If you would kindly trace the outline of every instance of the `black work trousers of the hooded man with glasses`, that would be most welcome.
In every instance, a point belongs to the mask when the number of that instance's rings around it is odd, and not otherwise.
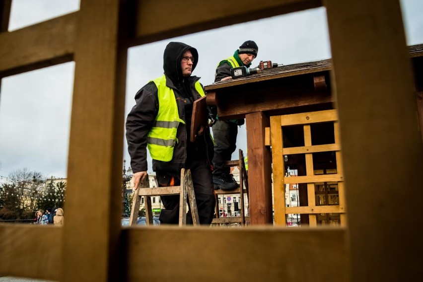
[[[213,219],[215,198],[213,195],[213,184],[211,181],[211,169],[206,160],[193,160],[186,165],[187,169],[191,169],[193,178],[195,198],[197,202],[198,215],[200,224],[210,225]],[[166,173],[156,172],[160,185],[160,179],[170,179],[172,176]],[[174,176],[174,185],[179,186],[181,183],[181,175]],[[164,181],[166,182],[166,181]],[[179,195],[160,196],[161,202],[165,210],[160,212],[159,220],[163,224],[179,223]],[[191,207],[188,202],[187,224],[193,224],[191,216]]]

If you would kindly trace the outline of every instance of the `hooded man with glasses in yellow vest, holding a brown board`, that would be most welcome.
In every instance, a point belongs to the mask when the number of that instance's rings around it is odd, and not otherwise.
[[[211,181],[213,143],[209,128],[194,142],[189,139],[193,103],[205,91],[191,75],[198,63],[195,48],[170,42],[163,54],[164,75],[151,80],[135,95],[136,105],[128,114],[126,138],[137,188],[147,176],[147,148],[160,186],[180,185],[181,169],[191,169],[201,224],[210,224],[215,198]],[[159,220],[178,224],[179,195],[161,196],[165,210]],[[187,223],[192,223],[188,211]]]

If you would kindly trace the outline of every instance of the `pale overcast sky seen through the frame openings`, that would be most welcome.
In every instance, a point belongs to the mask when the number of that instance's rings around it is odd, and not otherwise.
[[[423,1],[401,0],[401,4],[407,44],[423,43]],[[79,0],[13,0],[9,31],[78,9]],[[323,7],[134,47],[128,52],[125,117],[135,104],[138,89],[162,75],[163,50],[169,41],[197,48],[199,63],[193,74],[209,85],[217,63],[246,40],[259,46],[253,66],[261,60],[288,65],[331,57]],[[72,62],[1,80],[0,182],[24,167],[46,177],[67,177],[74,66]],[[245,126],[239,131],[237,145],[245,151]],[[126,141],[123,151],[128,166]]]

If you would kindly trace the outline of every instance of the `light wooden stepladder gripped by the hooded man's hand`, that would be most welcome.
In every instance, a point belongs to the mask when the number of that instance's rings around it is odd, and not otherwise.
[[[181,184],[179,186],[150,187],[148,175],[147,177],[145,177],[144,181],[139,184],[138,189],[135,190],[129,225],[132,226],[137,223],[138,213],[141,206],[141,198],[143,198],[144,200],[146,224],[153,225],[153,215],[150,197],[168,195],[180,196],[179,226],[186,225],[187,223],[187,199],[189,200],[191,207],[193,225],[200,225],[191,170],[184,168],[181,169]]]

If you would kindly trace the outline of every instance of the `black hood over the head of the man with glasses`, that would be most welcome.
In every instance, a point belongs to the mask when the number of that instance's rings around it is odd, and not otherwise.
[[[194,63],[192,71],[198,64],[198,52],[197,49],[182,43],[182,42],[169,42],[163,53],[163,70],[164,74],[169,77],[174,83],[183,80],[181,60],[184,53],[190,50],[193,57]]]

